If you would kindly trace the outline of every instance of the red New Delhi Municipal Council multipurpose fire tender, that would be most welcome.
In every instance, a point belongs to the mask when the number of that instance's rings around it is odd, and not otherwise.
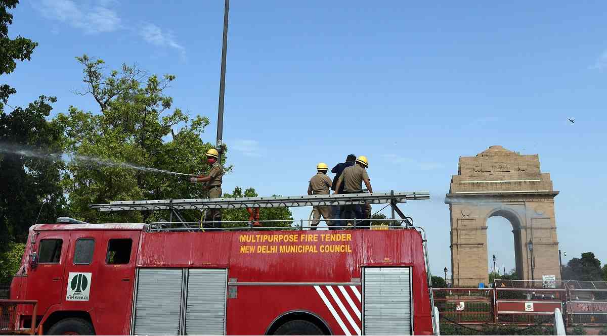
[[[54,335],[434,333],[421,229],[285,229],[35,225],[11,298]]]

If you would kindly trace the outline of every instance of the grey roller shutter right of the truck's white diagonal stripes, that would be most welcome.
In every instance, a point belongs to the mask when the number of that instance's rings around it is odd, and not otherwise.
[[[410,267],[364,267],[365,335],[412,335]]]

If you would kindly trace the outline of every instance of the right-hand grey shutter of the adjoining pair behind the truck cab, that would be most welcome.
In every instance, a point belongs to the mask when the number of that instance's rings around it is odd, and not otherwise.
[[[225,333],[226,269],[189,269],[186,335]]]

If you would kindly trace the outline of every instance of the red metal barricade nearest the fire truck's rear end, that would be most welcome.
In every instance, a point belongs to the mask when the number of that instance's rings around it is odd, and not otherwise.
[[[441,320],[460,324],[493,323],[493,289],[433,288]]]

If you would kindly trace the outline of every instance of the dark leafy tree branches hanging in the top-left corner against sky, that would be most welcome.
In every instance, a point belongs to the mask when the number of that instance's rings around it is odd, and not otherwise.
[[[38,43],[30,39],[17,36],[8,37],[8,25],[13,24],[13,15],[8,10],[17,6],[19,0],[0,0],[0,75],[12,73],[17,67],[16,60],[29,60]],[[16,90],[7,84],[0,84],[0,112],[8,101],[8,96]]]

